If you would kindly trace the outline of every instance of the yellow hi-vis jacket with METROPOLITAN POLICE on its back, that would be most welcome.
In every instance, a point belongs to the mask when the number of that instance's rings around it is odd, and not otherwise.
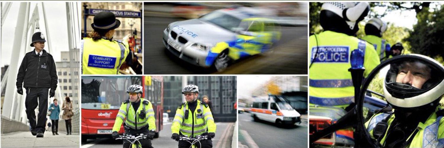
[[[346,107],[354,100],[350,54],[354,49],[364,52],[364,76],[378,64],[373,45],[344,33],[324,31],[310,36],[309,100],[311,104]],[[317,53],[315,53],[317,52]],[[315,54],[318,54],[315,57]]]

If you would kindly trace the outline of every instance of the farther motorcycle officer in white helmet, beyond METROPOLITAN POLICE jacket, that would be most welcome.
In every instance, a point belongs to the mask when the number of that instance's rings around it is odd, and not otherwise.
[[[379,18],[372,18],[365,24],[365,36],[362,37],[362,40],[373,45],[380,60],[385,59],[386,48],[389,48],[387,45],[390,46],[386,40],[382,39],[382,33],[385,30],[387,30],[387,23]]]

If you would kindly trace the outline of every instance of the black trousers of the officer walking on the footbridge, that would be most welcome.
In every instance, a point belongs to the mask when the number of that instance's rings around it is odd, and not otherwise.
[[[26,88],[25,108],[31,130],[45,132],[46,113],[48,112],[48,90],[49,88]],[[38,100],[38,102],[37,102]],[[39,114],[34,111],[39,106]]]

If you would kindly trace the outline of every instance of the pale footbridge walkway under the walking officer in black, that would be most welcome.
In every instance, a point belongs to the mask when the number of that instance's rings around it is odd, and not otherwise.
[[[36,138],[31,132],[11,132],[1,134],[2,148],[79,148],[79,135],[66,135],[59,131],[59,135],[52,135],[46,131],[44,138]]]

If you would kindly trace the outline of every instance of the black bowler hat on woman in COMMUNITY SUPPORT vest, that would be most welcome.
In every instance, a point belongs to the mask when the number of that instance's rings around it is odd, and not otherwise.
[[[120,26],[120,20],[115,19],[115,15],[109,11],[99,12],[94,16],[94,23],[91,27],[96,31],[108,31]]]

